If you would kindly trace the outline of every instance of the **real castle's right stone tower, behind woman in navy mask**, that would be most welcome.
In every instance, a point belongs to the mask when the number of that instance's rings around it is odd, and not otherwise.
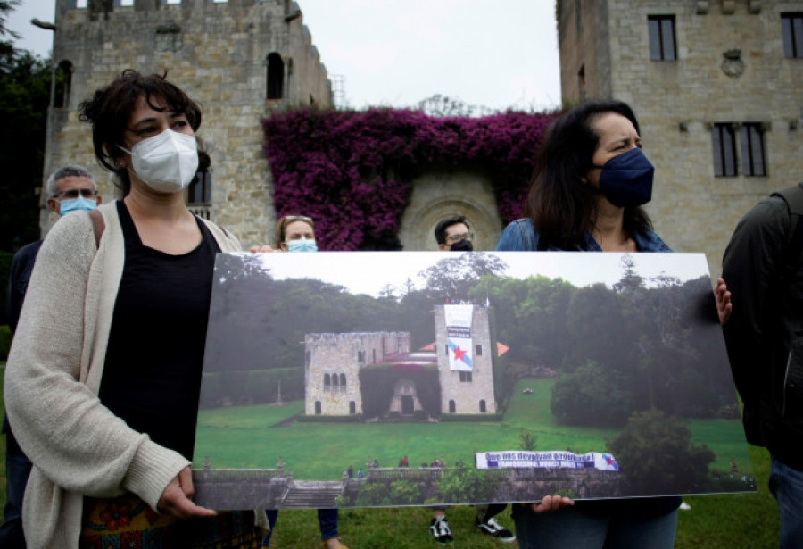
[[[564,101],[633,106],[655,164],[650,215],[712,275],[737,221],[803,180],[799,0],[560,0]]]

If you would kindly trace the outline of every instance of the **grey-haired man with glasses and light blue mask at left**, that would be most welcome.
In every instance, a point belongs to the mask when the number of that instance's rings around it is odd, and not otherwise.
[[[59,168],[47,179],[47,208],[60,217],[70,212],[91,211],[101,203],[97,185],[92,174],[83,166],[70,165]],[[42,240],[24,245],[14,254],[8,285],[8,325],[12,334],[17,329],[22,302],[28,289],[30,273],[37,261]],[[0,525],[0,547],[24,549],[25,537],[22,534],[22,495],[30,474],[30,462],[22,453],[20,446],[8,425],[3,420],[5,437],[5,507],[3,524]]]

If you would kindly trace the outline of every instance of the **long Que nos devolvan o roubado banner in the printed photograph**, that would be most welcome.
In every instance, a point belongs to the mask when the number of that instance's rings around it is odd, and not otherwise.
[[[477,469],[598,469],[619,470],[610,453],[571,452],[477,452]]]

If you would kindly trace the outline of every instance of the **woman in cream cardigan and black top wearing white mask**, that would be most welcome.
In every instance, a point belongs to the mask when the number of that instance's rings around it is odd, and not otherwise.
[[[30,279],[5,375],[28,546],[259,546],[264,512],[192,501],[215,254],[239,251],[186,209],[201,111],[125,71],[80,112],[125,197],[56,223]]]

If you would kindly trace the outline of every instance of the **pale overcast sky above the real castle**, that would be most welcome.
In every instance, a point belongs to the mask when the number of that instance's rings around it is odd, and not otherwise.
[[[17,46],[48,56],[55,0],[22,0]],[[345,104],[404,107],[440,94],[496,110],[560,104],[554,0],[299,0]]]

